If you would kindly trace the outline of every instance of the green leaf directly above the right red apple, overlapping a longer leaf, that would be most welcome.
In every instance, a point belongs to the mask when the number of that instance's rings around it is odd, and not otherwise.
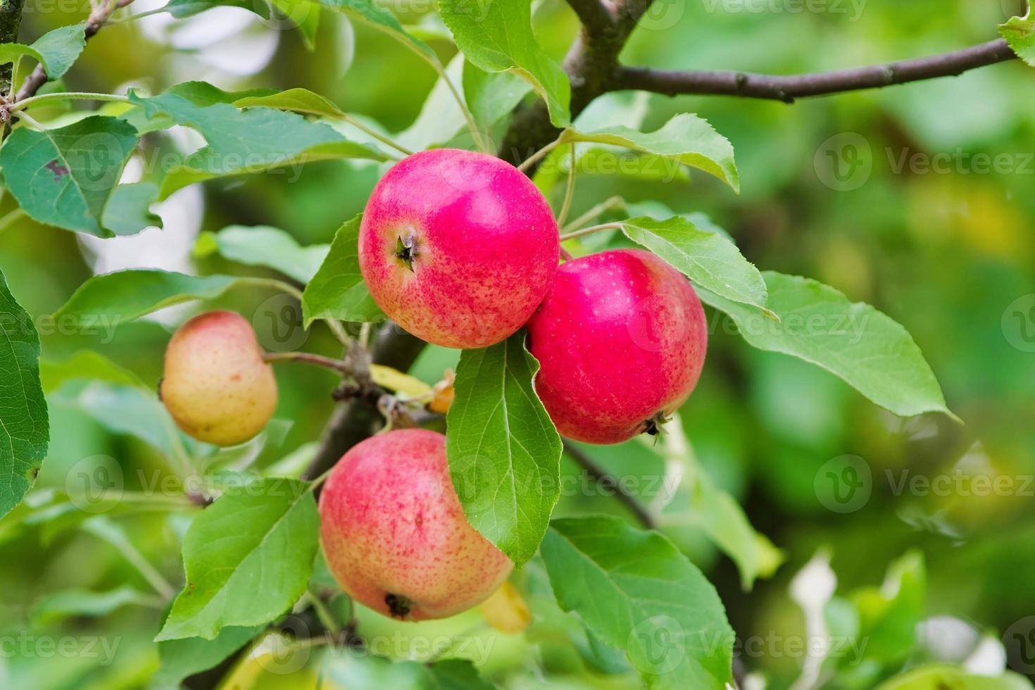
[[[622,232],[672,264],[694,286],[767,313],[766,283],[755,265],[722,235],[700,230],[682,216],[655,220],[647,216],[623,220]]]

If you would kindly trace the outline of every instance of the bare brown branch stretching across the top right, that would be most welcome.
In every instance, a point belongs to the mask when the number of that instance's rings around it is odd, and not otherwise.
[[[877,89],[940,77],[955,77],[969,69],[1015,58],[1016,55],[1006,41],[999,39],[943,55],[792,77],[623,66],[618,68],[611,88],[653,91],[670,96],[710,94],[768,98],[791,103],[795,98],[807,96]]]

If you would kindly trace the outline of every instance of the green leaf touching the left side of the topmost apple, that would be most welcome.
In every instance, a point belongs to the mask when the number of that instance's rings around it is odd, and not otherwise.
[[[371,297],[359,272],[359,222],[347,221],[334,234],[330,251],[320,270],[302,293],[302,323],[309,327],[316,319],[378,322],[385,316]]]

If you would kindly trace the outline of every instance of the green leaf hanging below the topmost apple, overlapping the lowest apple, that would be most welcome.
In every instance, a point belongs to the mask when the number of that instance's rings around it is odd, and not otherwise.
[[[464,513],[518,566],[535,554],[560,499],[561,438],[536,395],[538,370],[524,331],[465,350],[446,418],[449,474]]]

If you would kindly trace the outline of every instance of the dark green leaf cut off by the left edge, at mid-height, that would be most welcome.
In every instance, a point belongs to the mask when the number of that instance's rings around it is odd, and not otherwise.
[[[0,517],[36,481],[49,441],[39,335],[0,273]]]

